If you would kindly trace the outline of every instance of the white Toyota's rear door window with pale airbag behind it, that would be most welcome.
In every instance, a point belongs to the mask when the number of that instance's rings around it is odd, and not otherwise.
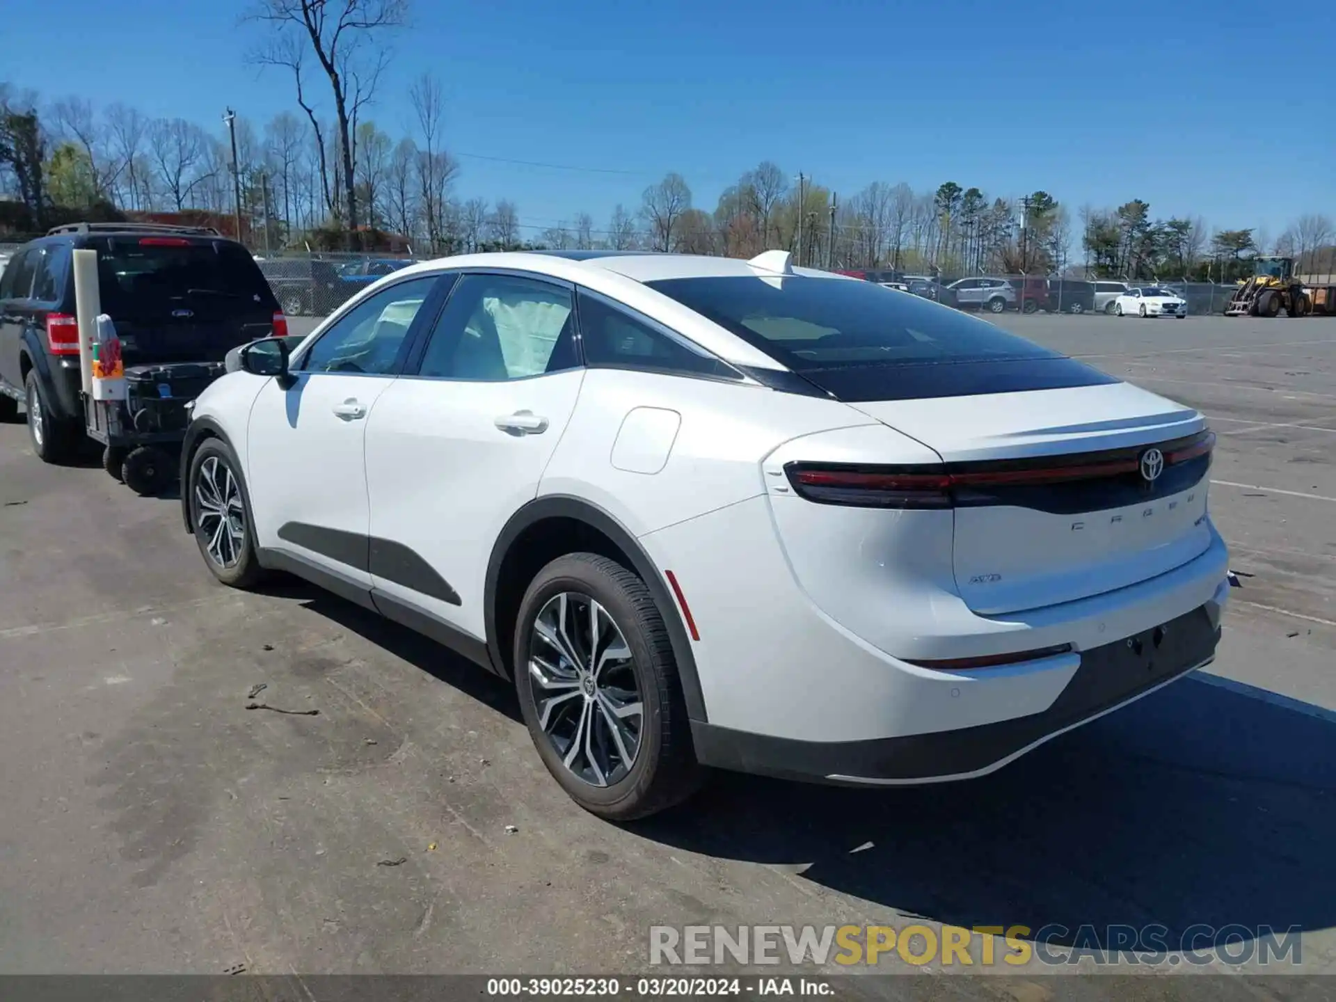
[[[570,290],[517,275],[464,275],[418,375],[494,382],[578,365]]]

